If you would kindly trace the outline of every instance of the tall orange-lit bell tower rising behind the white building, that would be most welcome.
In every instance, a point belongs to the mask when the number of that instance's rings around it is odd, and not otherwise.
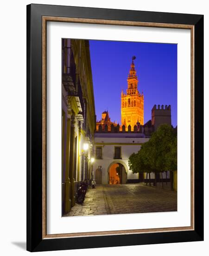
[[[133,60],[136,57],[132,57],[131,68],[128,74],[127,94],[121,92],[121,125],[127,127],[131,125],[133,131],[134,125],[139,121],[141,125],[144,125],[144,95],[140,94],[137,88],[138,79],[135,71],[135,65]]]

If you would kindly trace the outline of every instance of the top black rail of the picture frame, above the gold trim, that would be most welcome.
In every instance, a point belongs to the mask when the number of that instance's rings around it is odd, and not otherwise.
[[[98,20],[126,20],[153,23],[195,25],[202,17],[199,14],[162,13],[95,7],[73,7],[59,5],[32,4],[33,10],[41,16],[86,18]]]

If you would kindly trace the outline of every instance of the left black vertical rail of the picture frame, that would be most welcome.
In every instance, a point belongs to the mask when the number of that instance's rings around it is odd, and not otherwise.
[[[42,241],[42,20],[27,6],[27,242]]]

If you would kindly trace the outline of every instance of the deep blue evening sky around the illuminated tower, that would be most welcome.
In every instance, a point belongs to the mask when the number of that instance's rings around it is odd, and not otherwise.
[[[132,56],[138,90],[144,93],[144,123],[154,104],[171,105],[171,122],[177,126],[177,44],[89,40],[96,119],[107,110],[120,123],[120,93],[126,92]]]

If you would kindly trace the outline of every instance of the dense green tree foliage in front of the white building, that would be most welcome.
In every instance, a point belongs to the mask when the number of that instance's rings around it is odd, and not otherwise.
[[[149,141],[145,142],[138,153],[130,155],[128,165],[133,173],[177,170],[177,134],[163,124],[158,127]]]

